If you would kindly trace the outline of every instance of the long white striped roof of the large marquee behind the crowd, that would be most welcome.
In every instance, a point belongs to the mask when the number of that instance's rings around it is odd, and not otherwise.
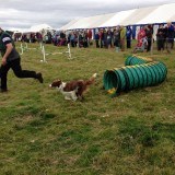
[[[175,3],[133,9],[109,14],[73,20],[59,30],[113,27],[117,25],[143,25],[175,22]]]

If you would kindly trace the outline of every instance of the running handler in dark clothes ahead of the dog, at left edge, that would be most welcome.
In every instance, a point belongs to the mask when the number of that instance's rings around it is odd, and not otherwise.
[[[0,27],[0,51],[2,56],[2,63],[0,67],[1,92],[8,91],[7,75],[10,68],[18,78],[34,78],[43,83],[42,73],[35,71],[22,70],[21,57],[15,49],[14,42],[11,36]]]

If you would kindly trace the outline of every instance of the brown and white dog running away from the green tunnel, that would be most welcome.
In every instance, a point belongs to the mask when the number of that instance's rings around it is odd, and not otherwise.
[[[85,90],[89,85],[94,83],[96,73],[94,73],[89,80],[73,80],[70,82],[56,80],[49,84],[49,86],[58,89],[58,91],[65,95],[65,100],[83,100]]]

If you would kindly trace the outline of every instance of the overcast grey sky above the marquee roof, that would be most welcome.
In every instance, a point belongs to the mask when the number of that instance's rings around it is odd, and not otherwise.
[[[46,23],[59,28],[73,19],[165,3],[175,0],[0,0],[0,26],[23,30]]]

